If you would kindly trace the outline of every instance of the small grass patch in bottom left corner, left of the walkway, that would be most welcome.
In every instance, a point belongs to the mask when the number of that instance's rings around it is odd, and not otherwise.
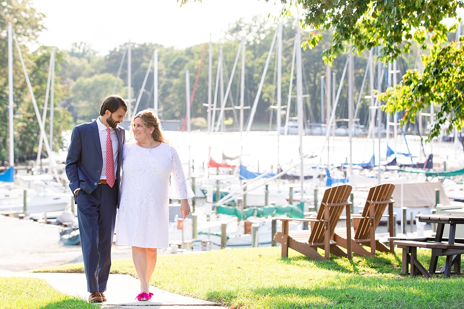
[[[67,296],[39,278],[0,277],[1,309],[97,309],[82,299]]]

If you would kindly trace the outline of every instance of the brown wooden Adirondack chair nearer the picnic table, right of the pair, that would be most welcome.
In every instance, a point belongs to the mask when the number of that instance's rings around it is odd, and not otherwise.
[[[363,256],[375,256],[375,250],[383,252],[394,252],[393,241],[390,241],[390,248],[375,239],[375,230],[379,226],[380,218],[383,216],[388,206],[388,227],[390,237],[393,237],[393,189],[395,186],[391,183],[383,183],[372,187],[367,195],[366,204],[361,215],[352,214],[353,229],[351,238],[346,229],[336,228],[334,240],[339,246],[347,248],[351,245],[353,252]],[[351,240],[351,241],[348,241]],[[370,246],[371,252],[363,248]]]

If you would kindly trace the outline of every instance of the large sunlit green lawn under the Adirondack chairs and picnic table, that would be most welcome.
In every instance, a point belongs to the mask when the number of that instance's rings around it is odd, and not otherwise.
[[[418,255],[427,268],[430,251]],[[440,258],[438,265],[444,263]],[[83,265],[39,271],[83,272]],[[113,261],[111,272],[135,276],[130,259]],[[400,272],[398,254],[315,261],[293,250],[282,259],[279,247],[267,247],[161,255],[151,283],[241,309],[464,308],[464,277],[410,278]]]

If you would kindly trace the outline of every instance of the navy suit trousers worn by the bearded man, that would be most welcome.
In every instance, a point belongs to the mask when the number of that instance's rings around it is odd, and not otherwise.
[[[76,199],[87,290],[104,292],[111,267],[118,182],[113,188],[99,184],[91,194],[80,190]]]

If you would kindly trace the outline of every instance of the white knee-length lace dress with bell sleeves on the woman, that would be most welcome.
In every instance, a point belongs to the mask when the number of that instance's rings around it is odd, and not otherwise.
[[[120,190],[116,245],[167,248],[169,198],[194,196],[177,151],[165,143],[152,149],[124,145]]]

